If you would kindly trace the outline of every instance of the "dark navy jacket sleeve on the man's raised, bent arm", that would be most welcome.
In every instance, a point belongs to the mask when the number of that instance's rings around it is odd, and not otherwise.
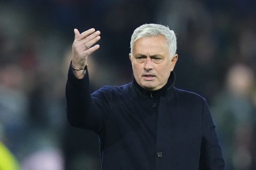
[[[70,64],[66,84],[67,119],[71,126],[99,134],[107,122],[113,90],[103,87],[91,95],[87,67],[85,70],[84,78],[77,79]]]

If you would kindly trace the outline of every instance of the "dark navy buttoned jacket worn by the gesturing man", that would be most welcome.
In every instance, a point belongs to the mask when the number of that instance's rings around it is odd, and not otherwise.
[[[175,88],[174,81],[172,72],[157,91],[133,79],[90,94],[88,71],[78,80],[69,69],[68,121],[99,135],[102,170],[224,169],[205,99]]]

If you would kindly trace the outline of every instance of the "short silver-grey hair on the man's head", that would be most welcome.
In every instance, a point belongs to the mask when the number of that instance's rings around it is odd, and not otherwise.
[[[155,37],[155,36],[164,36],[167,45],[169,47],[169,52],[170,52],[170,59],[172,60],[173,56],[176,53],[177,50],[177,39],[176,35],[173,30],[170,30],[169,27],[161,25],[161,24],[143,24],[140,27],[136,28],[132,34],[131,37],[131,54],[132,54],[132,47],[133,43],[137,41],[140,38],[144,37]]]

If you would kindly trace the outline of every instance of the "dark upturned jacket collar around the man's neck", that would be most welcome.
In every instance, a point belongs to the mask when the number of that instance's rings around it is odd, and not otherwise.
[[[132,88],[135,90],[135,93],[141,97],[167,97],[171,94],[173,86],[175,82],[175,73],[171,72],[170,77],[167,83],[159,90],[149,91],[142,88],[137,81],[135,80],[134,76],[132,77]]]

